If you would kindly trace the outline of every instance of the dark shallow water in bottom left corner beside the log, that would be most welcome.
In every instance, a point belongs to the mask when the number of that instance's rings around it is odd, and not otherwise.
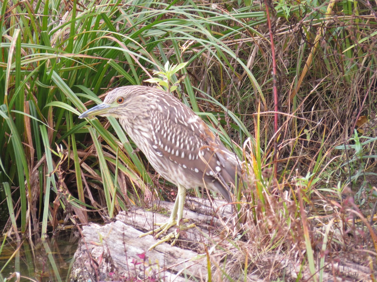
[[[69,281],[78,238],[74,229],[67,228],[43,241],[38,236],[32,240],[24,237],[21,241],[2,237],[4,246],[0,252],[0,282],[15,272],[20,273],[20,281],[25,282]]]

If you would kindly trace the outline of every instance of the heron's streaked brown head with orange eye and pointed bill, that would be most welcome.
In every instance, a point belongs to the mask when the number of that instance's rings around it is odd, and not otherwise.
[[[86,112],[83,112],[79,118],[93,117],[125,117],[132,115],[136,105],[142,105],[150,97],[148,86],[123,86],[109,91],[102,104],[97,105]],[[139,107],[136,107],[136,109]]]

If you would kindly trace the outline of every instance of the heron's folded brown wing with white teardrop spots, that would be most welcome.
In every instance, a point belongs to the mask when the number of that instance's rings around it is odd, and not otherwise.
[[[236,156],[198,115],[180,102],[160,106],[151,114],[151,146],[156,155],[178,164],[204,184],[214,183],[216,192],[230,201],[226,183],[234,184],[239,170]]]

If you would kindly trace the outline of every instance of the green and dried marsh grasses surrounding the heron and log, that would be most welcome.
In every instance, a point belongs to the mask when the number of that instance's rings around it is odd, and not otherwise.
[[[78,119],[124,85],[169,89],[244,161],[213,281],[375,280],[375,1],[0,3],[0,281],[25,241],[174,200],[115,119]]]

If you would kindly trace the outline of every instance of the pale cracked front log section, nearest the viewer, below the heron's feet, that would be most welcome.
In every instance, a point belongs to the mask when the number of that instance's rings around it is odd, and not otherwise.
[[[184,277],[201,279],[207,275],[205,256],[167,243],[146,252],[156,240],[152,236],[138,238],[142,232],[120,220],[104,226],[84,226],[82,233],[71,280],[121,281],[129,277],[152,277],[185,281]]]

